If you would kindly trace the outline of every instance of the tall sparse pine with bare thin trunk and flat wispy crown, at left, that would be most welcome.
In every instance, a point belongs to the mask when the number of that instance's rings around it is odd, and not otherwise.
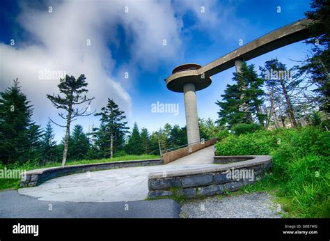
[[[65,162],[68,155],[71,122],[74,120],[74,118],[77,118],[78,116],[89,116],[93,114],[86,114],[86,111],[88,111],[91,101],[94,98],[87,98],[87,96],[84,94],[88,92],[88,90],[86,89],[88,83],[85,81],[85,79],[85,75],[80,75],[78,79],[74,78],[72,75],[66,75],[65,79],[60,79],[60,84],[57,85],[57,87],[59,88],[59,92],[63,94],[63,96],[61,96],[60,94],[47,95],[47,98],[54,104],[54,107],[56,107],[56,109],[63,109],[66,112],[66,115],[65,113],[58,113],[58,116],[65,120],[66,125],[63,126],[55,123],[58,126],[65,127],[62,166],[65,166]],[[84,103],[88,103],[86,108],[74,109],[74,106]],[[53,120],[52,122],[54,123]]]

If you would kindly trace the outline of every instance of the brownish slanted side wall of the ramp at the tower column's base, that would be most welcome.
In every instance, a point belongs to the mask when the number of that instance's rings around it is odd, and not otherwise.
[[[162,160],[164,164],[168,164],[170,162],[178,160],[181,157],[185,157],[191,153],[195,153],[196,151],[201,150],[207,146],[212,146],[216,142],[217,142],[217,138],[214,138],[203,142],[193,143],[177,150],[171,150],[166,153],[163,152]]]

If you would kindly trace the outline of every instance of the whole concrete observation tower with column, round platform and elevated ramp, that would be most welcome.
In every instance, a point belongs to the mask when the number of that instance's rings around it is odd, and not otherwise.
[[[188,144],[201,141],[198,127],[196,91],[210,86],[212,75],[216,75],[234,66],[236,72],[240,72],[244,61],[249,61],[274,49],[290,45],[293,42],[311,38],[311,33],[308,31],[308,25],[311,23],[312,20],[306,18],[292,22],[204,66],[196,63],[186,63],[176,67],[172,71],[172,75],[165,79],[165,81],[170,91],[184,93]]]

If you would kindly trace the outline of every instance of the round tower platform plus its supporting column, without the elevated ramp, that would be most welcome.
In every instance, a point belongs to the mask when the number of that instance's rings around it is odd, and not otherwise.
[[[201,141],[198,126],[198,114],[196,104],[196,91],[210,86],[211,77],[198,74],[201,65],[186,63],[179,65],[172,71],[172,75],[166,79],[167,88],[184,95],[184,109],[186,112],[188,144]]]

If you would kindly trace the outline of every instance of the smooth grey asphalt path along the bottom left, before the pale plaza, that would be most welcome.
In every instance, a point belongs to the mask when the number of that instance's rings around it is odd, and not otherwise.
[[[178,218],[180,205],[172,199],[111,203],[40,201],[0,192],[1,218]]]

